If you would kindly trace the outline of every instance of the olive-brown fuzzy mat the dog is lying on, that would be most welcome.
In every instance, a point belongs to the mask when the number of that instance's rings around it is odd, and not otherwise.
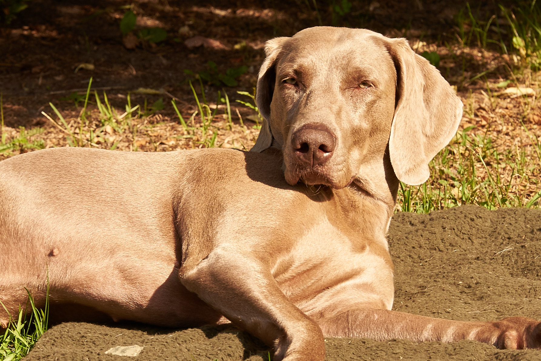
[[[458,320],[541,319],[541,210],[463,206],[428,215],[397,213],[389,231],[394,310]],[[171,330],[64,323],[24,358],[101,360],[114,346],[144,346],[136,360],[269,359],[257,339],[232,326]],[[326,340],[326,360],[541,360],[541,351],[497,350],[472,341]]]

